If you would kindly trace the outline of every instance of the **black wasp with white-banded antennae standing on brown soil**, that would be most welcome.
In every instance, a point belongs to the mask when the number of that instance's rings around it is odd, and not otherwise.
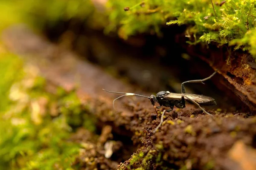
[[[198,79],[198,80],[189,80],[186,82],[181,83],[181,94],[178,93],[170,93],[169,91],[160,91],[156,94],[156,96],[151,95],[151,96],[143,96],[140,94],[134,94],[134,93],[121,93],[121,92],[115,92],[115,91],[107,91],[109,93],[116,93],[116,94],[124,94],[122,96],[117,97],[116,99],[113,100],[113,108],[114,107],[114,102],[123,97],[123,96],[140,96],[140,97],[145,97],[148,98],[151,102],[151,104],[154,106],[156,103],[158,103],[160,106],[156,107],[156,108],[161,108],[161,106],[165,106],[165,107],[169,107],[170,109],[168,110],[164,110],[161,116],[161,121],[160,124],[156,127],[156,129],[154,130],[154,132],[161,126],[161,124],[163,123],[163,115],[165,112],[170,112],[173,110],[174,106],[176,106],[177,108],[185,108],[186,107],[186,101],[189,103],[192,103],[194,105],[197,105],[199,108],[201,108],[201,110],[212,116],[210,113],[208,113],[207,111],[204,110],[204,108],[201,107],[201,105],[216,105],[215,99],[213,99],[212,97],[209,96],[204,96],[204,95],[198,95],[198,94],[186,94],[186,90],[185,90],[185,83],[203,83],[204,81],[212,78],[215,74],[217,73],[217,71],[215,71],[212,75],[210,75],[209,77],[205,78],[205,79]]]

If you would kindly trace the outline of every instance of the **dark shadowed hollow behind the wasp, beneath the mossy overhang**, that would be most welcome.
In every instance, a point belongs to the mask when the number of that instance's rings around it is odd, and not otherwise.
[[[72,26],[69,26],[71,22]],[[72,48],[82,59],[101,66],[119,79],[128,80],[135,88],[141,88],[143,91],[157,93],[168,90],[180,93],[181,82],[202,79],[213,72],[207,63],[200,62],[196,57],[183,57],[189,51],[183,48],[182,43],[184,42],[181,42],[178,35],[183,34],[186,26],[163,26],[161,28],[162,37],[140,34],[131,36],[124,41],[120,40],[117,35],[106,36],[102,30],[92,30],[86,27],[82,21],[73,19],[67,23],[61,22],[61,28],[58,26],[56,28],[47,27],[45,31],[49,39],[56,40],[56,35],[52,34],[56,30],[62,33],[67,31],[64,31],[64,26],[76,35]],[[185,39],[184,41],[186,41]],[[216,50],[218,49],[216,48]],[[202,51],[202,55],[211,57],[208,54],[210,54],[209,51]],[[204,74],[198,74],[198,72]],[[218,80],[215,79],[215,81]],[[237,78],[237,81],[243,83],[242,79]],[[213,97],[220,104],[215,108],[232,108],[237,103],[227,95],[224,101],[223,91],[219,91],[219,87],[216,88],[211,80],[208,80],[206,84],[190,83],[186,85],[186,89],[188,93]],[[227,89],[223,90],[227,91]]]

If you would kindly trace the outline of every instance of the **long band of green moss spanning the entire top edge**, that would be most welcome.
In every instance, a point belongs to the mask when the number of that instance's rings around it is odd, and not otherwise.
[[[127,39],[138,33],[158,34],[164,25],[186,25],[189,44],[213,43],[249,51],[256,57],[255,0],[23,0],[3,1],[0,9],[15,13],[3,26],[25,21],[38,28],[80,20],[90,28],[104,29]],[[2,8],[1,8],[2,7]],[[129,8],[128,8],[129,7]],[[125,8],[125,10],[124,10]],[[12,12],[15,10],[15,12]],[[2,16],[2,17],[3,17]],[[22,16],[22,17],[17,17]],[[11,20],[11,22],[9,22]]]

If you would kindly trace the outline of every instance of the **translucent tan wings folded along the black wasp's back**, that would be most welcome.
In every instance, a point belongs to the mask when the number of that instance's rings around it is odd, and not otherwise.
[[[212,97],[204,96],[204,95],[198,95],[198,94],[183,94],[183,95],[186,100],[192,99],[199,104],[214,101]],[[181,96],[182,94],[179,94],[179,93],[170,93],[170,94],[166,94],[165,98],[178,100],[178,99],[181,99]],[[186,96],[189,97],[189,99]]]

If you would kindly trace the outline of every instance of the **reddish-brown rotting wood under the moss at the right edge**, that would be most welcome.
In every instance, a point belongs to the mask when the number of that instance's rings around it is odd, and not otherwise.
[[[178,35],[180,37],[180,35]],[[214,45],[188,45],[183,38],[177,38],[177,43],[183,45],[187,53],[207,62],[213,69],[219,69],[227,82],[215,81],[226,86],[237,98],[248,106],[250,111],[256,113],[256,68],[253,67],[254,59],[241,51],[228,51],[227,47],[217,48]],[[184,41],[183,41],[184,40]]]

